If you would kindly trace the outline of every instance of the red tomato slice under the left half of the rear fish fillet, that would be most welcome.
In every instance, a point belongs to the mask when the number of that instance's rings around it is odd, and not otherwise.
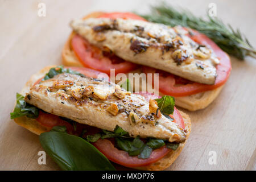
[[[110,75],[110,69],[115,69],[115,74],[118,74],[130,72],[137,67],[137,64],[127,62],[92,46],[79,35],[73,36],[71,46],[77,59],[84,67],[96,69],[108,75]]]

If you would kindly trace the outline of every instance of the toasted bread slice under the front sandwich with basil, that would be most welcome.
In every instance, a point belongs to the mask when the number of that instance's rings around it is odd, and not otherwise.
[[[30,90],[31,86],[39,80],[39,78],[42,78],[46,73],[49,71],[49,69],[56,67],[56,65],[51,65],[49,67],[43,68],[41,71],[36,73],[35,75],[32,75],[30,80],[27,81],[26,85],[20,92],[23,96],[28,93]],[[187,137],[183,143],[180,143],[179,147],[175,151],[169,152],[164,158],[158,160],[158,162],[152,163],[148,166],[143,166],[143,167],[135,167],[134,169],[140,169],[140,170],[163,170],[171,166],[171,164],[175,161],[177,156],[179,156],[180,152],[182,151],[183,147],[185,146],[185,143],[187,142],[187,139],[189,137],[189,134],[191,133],[191,119],[189,116],[182,111],[179,111],[181,116],[183,117],[184,124],[185,124],[185,130],[187,130]],[[39,122],[36,121],[36,119],[31,119],[27,118],[26,116],[15,118],[14,121],[24,127],[25,129],[31,131],[32,133],[36,135],[40,135],[41,133],[47,132],[50,129],[47,127],[44,127],[40,125]]]

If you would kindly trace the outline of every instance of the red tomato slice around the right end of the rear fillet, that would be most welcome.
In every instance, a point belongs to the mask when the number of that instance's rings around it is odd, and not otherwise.
[[[220,64],[217,65],[217,78],[214,85],[200,84],[172,75],[164,71],[159,71],[150,67],[143,67],[144,73],[159,73],[159,91],[163,94],[174,97],[190,96],[192,94],[213,90],[221,85],[224,85],[228,80],[230,71],[232,69],[229,56],[221,50],[212,40],[206,35],[201,34],[195,30],[193,32],[193,39],[199,44],[210,46],[217,57],[220,59]],[[190,36],[190,35],[189,35]],[[154,83],[154,80],[152,81]]]

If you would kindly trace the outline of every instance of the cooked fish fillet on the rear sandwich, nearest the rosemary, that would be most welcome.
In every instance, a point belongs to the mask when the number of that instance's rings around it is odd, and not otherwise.
[[[124,60],[203,84],[216,80],[219,60],[212,49],[194,42],[181,27],[108,18],[77,19],[70,25],[90,44]]]

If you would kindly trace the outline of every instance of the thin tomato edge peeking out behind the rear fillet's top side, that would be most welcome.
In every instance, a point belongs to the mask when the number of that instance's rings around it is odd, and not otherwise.
[[[144,20],[146,19],[142,18],[141,16],[138,16],[133,13],[120,13],[120,12],[113,12],[113,13],[104,13],[98,16],[97,18],[112,18],[112,19],[117,19],[117,18],[122,18],[122,19],[137,19],[137,20]]]

